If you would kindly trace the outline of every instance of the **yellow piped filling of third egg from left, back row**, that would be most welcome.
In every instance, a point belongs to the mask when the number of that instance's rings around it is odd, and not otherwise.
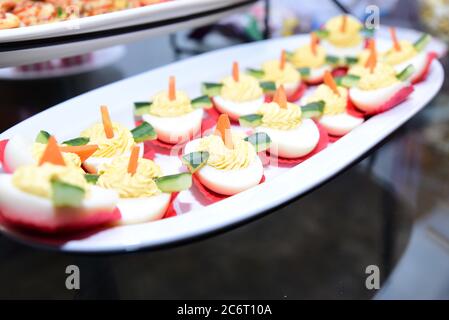
[[[159,117],[177,117],[193,111],[189,96],[176,91],[176,98],[170,100],[167,91],[156,94],[152,99],[150,114]]]

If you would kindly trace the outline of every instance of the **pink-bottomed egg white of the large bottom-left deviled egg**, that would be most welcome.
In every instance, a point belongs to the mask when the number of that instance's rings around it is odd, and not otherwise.
[[[56,228],[82,221],[99,211],[115,209],[118,194],[91,186],[90,196],[77,209],[56,209],[50,199],[26,193],[12,184],[12,175],[0,175],[0,211],[6,218]]]

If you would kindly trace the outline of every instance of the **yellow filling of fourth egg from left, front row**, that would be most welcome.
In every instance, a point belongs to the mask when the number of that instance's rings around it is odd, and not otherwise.
[[[263,116],[263,127],[291,130],[301,124],[301,108],[293,103],[287,103],[286,108],[274,102],[264,103],[257,113]]]

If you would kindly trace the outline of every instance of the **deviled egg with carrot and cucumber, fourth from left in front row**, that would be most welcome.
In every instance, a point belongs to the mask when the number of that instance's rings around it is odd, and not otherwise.
[[[317,112],[323,111],[323,104],[314,104]],[[273,102],[264,103],[257,113],[242,116],[239,121],[242,126],[256,127],[257,132],[268,134],[270,153],[283,158],[303,157],[311,153],[320,140],[315,122],[304,119],[301,107],[287,102],[283,86],[276,91]]]

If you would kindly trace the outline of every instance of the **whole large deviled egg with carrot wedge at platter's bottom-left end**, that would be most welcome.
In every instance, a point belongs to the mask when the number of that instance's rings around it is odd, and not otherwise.
[[[54,137],[39,164],[0,175],[0,212],[11,224],[41,232],[98,227],[120,218],[116,192],[91,186],[82,169],[66,166]]]

